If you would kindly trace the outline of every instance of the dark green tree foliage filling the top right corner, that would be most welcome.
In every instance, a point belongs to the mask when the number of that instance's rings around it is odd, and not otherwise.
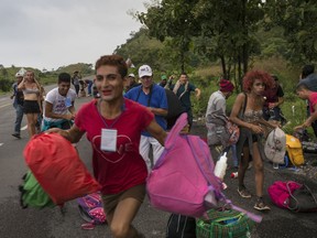
[[[265,29],[282,26],[287,42],[285,57],[295,64],[317,60],[317,6],[315,0],[266,0]]]

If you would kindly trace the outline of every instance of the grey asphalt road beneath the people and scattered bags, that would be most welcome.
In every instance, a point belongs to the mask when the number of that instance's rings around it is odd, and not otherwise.
[[[76,107],[79,108],[85,101],[91,98],[78,98]],[[1,238],[72,238],[72,237],[110,237],[109,228],[105,225],[97,226],[94,230],[83,230],[80,225],[84,223],[79,217],[79,212],[75,201],[65,205],[66,213],[62,215],[58,207],[55,208],[26,208],[22,209],[19,204],[18,186],[21,184],[22,175],[26,171],[25,162],[22,155],[23,148],[28,142],[28,132],[24,129],[23,120],[22,139],[15,139],[11,136],[14,123],[14,109],[9,96],[0,97],[0,237]],[[204,129],[194,125],[193,133],[201,134]],[[78,143],[78,151],[81,160],[91,171],[90,158],[91,150],[86,138]],[[227,171],[225,182],[228,188],[225,191],[229,199],[236,205],[241,206],[255,214],[263,215],[263,220],[253,229],[252,237],[317,237],[316,214],[294,214],[283,210],[271,204],[272,210],[261,214],[253,209],[255,203],[254,196],[250,199],[241,198],[237,193],[237,178],[230,178]],[[280,173],[272,169],[271,164],[265,164],[265,187],[277,180],[299,180],[306,182],[305,176],[297,176],[295,172]],[[254,195],[254,174],[251,169],[247,174],[247,186]],[[317,191],[314,182],[307,181],[311,188]],[[175,182],[177,186],[177,182]],[[264,197],[267,203],[270,198]],[[141,207],[134,226],[138,227],[149,238],[165,237],[165,227],[168,213],[153,209],[145,201]]]

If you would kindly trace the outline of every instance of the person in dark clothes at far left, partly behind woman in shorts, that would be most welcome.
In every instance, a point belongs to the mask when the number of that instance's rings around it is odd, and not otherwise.
[[[18,90],[18,85],[23,79],[23,74],[17,73],[15,74],[17,82],[12,85],[13,95],[10,97],[13,99],[13,107],[15,109],[15,122],[14,122],[14,132],[12,133],[13,137],[21,139],[21,122],[23,119],[23,102],[24,96],[21,90]]]

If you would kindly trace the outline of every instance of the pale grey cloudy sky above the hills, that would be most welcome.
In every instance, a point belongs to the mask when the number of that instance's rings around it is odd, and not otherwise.
[[[0,64],[39,69],[95,64],[141,24],[146,0],[0,0]],[[149,2],[149,1],[147,1]]]

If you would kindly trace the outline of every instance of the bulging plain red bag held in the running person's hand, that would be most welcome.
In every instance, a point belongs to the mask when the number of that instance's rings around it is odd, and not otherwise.
[[[57,133],[34,136],[23,154],[35,178],[57,205],[101,188],[73,144]]]

